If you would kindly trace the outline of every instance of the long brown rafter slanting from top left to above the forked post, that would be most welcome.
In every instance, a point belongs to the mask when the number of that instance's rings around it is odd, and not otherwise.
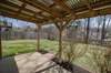
[[[24,0],[20,0],[20,1],[24,2]],[[53,11],[51,8],[49,8],[49,7],[47,7],[47,6],[42,4],[42,3],[40,3],[40,2],[37,1],[37,0],[26,0],[26,2],[27,2],[28,4],[31,4],[31,6],[36,7],[36,8],[38,8],[38,9],[40,9],[40,10],[44,11],[44,12],[50,13],[53,18],[60,18],[60,17],[61,17],[58,12]]]

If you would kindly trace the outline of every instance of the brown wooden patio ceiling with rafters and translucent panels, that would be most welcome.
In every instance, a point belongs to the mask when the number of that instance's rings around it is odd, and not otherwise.
[[[1,0],[0,15],[34,23],[111,14],[111,0]]]

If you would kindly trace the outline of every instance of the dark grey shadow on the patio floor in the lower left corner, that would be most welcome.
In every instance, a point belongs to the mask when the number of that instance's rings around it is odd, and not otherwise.
[[[14,58],[0,60],[0,73],[19,73]]]

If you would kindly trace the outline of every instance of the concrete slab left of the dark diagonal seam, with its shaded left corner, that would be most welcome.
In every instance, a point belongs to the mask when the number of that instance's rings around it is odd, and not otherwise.
[[[51,53],[40,54],[38,52],[6,58],[0,61],[0,73],[36,73],[50,66],[53,58]]]

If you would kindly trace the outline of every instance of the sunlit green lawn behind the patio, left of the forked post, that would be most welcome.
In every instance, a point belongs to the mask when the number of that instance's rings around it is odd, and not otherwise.
[[[37,51],[37,40],[2,41],[3,56]],[[58,41],[41,40],[40,49],[57,51]]]

